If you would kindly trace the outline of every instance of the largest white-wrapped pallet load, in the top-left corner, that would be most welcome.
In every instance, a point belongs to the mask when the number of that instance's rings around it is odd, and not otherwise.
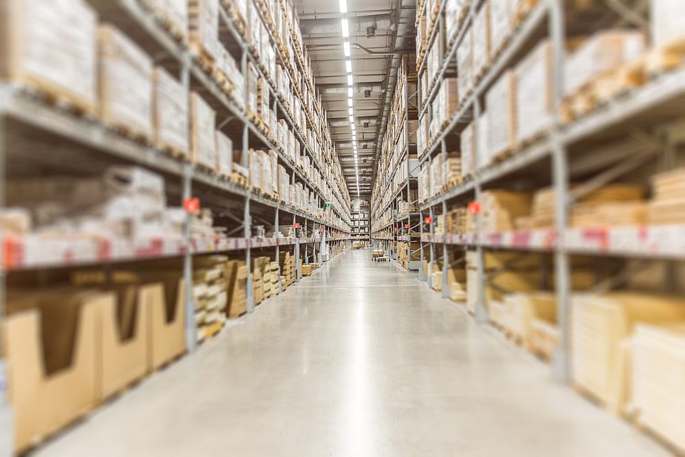
[[[97,111],[97,16],[83,0],[0,3],[0,78]]]

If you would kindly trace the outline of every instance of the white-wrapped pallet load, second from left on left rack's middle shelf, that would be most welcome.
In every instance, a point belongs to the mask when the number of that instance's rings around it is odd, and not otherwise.
[[[101,25],[100,116],[127,134],[152,138],[152,59],[112,25]]]

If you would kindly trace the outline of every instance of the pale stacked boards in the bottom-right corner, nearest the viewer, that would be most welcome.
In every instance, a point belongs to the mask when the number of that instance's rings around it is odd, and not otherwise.
[[[631,365],[638,423],[685,452],[685,322],[636,325]]]

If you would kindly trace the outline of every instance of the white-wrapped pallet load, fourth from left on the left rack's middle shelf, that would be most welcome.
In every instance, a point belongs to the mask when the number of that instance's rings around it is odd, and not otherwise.
[[[197,93],[190,93],[190,158],[193,163],[216,169],[216,113]]]

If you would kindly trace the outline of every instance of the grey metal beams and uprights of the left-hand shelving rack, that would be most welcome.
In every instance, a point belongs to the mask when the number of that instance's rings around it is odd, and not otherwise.
[[[163,66],[166,70],[177,75],[179,81],[188,90],[201,92],[203,98],[210,103],[217,114],[217,128],[223,130],[233,138],[242,138],[242,166],[248,166],[248,151],[251,145],[266,147],[277,151],[278,162],[288,169],[288,174],[295,182],[302,182],[316,191],[319,199],[319,208],[324,207],[328,197],[316,184],[308,180],[296,164],[275,145],[247,117],[245,109],[229,97],[216,82],[203,70],[201,64],[195,61],[190,51],[183,43],[178,42],[166,31],[162,21],[153,14],[140,0],[88,0],[88,3],[97,10],[99,21],[109,22],[122,30],[136,45],[148,55],[155,58],[155,64]],[[227,10],[228,2],[220,2],[219,9],[221,23],[221,39],[229,52],[240,55],[240,68],[245,77],[245,94],[242,104],[247,108],[247,65],[252,62],[255,68],[264,75],[256,59],[249,51],[245,39],[240,36],[236,24]],[[260,12],[261,14],[261,12]],[[264,18],[266,19],[266,18]],[[267,27],[269,28],[269,27]],[[229,34],[225,34],[225,30]],[[271,34],[271,29],[269,29]],[[293,34],[294,35],[294,34]],[[290,37],[292,40],[292,36]],[[273,34],[271,41],[275,42]],[[281,62],[287,64],[286,58],[281,54],[281,49],[276,46],[277,55]],[[299,56],[295,59],[314,92],[313,83],[310,81]],[[289,73],[290,84],[297,86],[299,82],[294,73]],[[316,154],[308,144],[305,134],[292,120],[288,108],[282,99],[277,97],[275,84],[269,77],[270,90],[273,93],[273,110],[277,112],[279,119],[285,119],[290,129],[301,145],[301,151],[310,156],[323,180],[328,182],[334,200],[334,207],[323,210],[322,214],[310,214],[293,206],[282,204],[279,201],[268,199],[249,188],[238,186],[234,182],[225,180],[216,175],[207,173],[196,168],[185,160],[169,156],[168,154],[127,138],[119,132],[109,129],[99,123],[97,119],[74,114],[69,108],[45,103],[31,90],[16,87],[11,84],[0,82],[0,180],[2,184],[5,176],[13,173],[14,169],[21,167],[31,168],[42,165],[42,169],[51,171],[59,170],[70,173],[97,173],[111,164],[136,164],[144,166],[164,175],[169,188],[173,188],[174,196],[179,201],[189,197],[200,197],[203,204],[207,203],[211,208],[219,208],[225,215],[238,223],[233,233],[238,237],[196,239],[190,237],[190,216],[186,220],[185,236],[182,240],[169,240],[162,234],[155,237],[151,242],[161,247],[155,249],[143,249],[140,246],[130,245],[124,240],[106,240],[119,247],[106,256],[100,253],[86,253],[82,258],[32,258],[30,261],[11,260],[11,252],[6,251],[12,247],[12,242],[3,238],[0,243],[3,264],[0,268],[0,317],[5,316],[4,293],[5,276],[12,271],[27,269],[46,269],[55,267],[75,267],[88,264],[108,264],[112,262],[146,260],[162,257],[182,257],[184,259],[183,275],[186,284],[192,284],[192,258],[196,255],[212,252],[240,251],[245,256],[247,265],[251,264],[251,255],[255,249],[275,249],[275,258],[279,258],[280,249],[292,249],[296,258],[297,279],[301,278],[300,253],[303,251],[305,262],[310,261],[310,256],[321,260],[327,260],[327,246],[329,243],[349,244],[351,239],[351,218],[349,212],[349,193],[344,184],[332,179],[327,179],[325,166],[333,166],[324,163],[316,157]],[[297,91],[299,97],[299,90]],[[306,103],[302,103],[306,107]],[[318,103],[314,103],[319,119],[325,120]],[[327,132],[327,127],[321,127],[325,138],[321,137],[319,126],[314,122],[312,114],[305,108],[306,119],[310,128],[315,132],[316,140],[322,145],[332,145]],[[29,140],[25,140],[29,138]],[[42,143],[41,143],[42,142]],[[43,149],[40,149],[41,146]],[[64,147],[60,147],[64,145]],[[49,147],[50,160],[45,154],[45,148]],[[322,148],[322,151],[325,151]],[[300,151],[298,151],[299,153]],[[323,157],[322,159],[326,158]],[[335,152],[327,160],[337,161]],[[338,162],[339,166],[339,162]],[[342,186],[342,188],[341,188]],[[4,184],[0,186],[0,203],[4,200]],[[258,220],[273,226],[274,232],[278,231],[279,225],[301,224],[306,235],[301,238],[256,238],[251,233],[253,221]],[[336,221],[337,220],[337,221]],[[16,241],[14,242],[16,245]],[[319,257],[319,254],[321,256]],[[8,260],[10,259],[10,260]],[[249,312],[253,312],[253,286],[251,283],[252,271],[248,268],[247,278],[247,305]],[[280,276],[279,276],[280,278]],[[282,285],[279,284],[280,290]],[[193,316],[192,286],[186,287],[186,346],[189,351],[195,349],[196,332],[195,319]],[[2,336],[0,334],[0,336]],[[0,342],[3,338],[0,338]],[[0,354],[3,354],[0,347]],[[11,414],[8,399],[6,398],[6,367],[5,361],[0,358],[0,454],[11,454],[12,427]],[[4,452],[8,449],[7,452]]]

